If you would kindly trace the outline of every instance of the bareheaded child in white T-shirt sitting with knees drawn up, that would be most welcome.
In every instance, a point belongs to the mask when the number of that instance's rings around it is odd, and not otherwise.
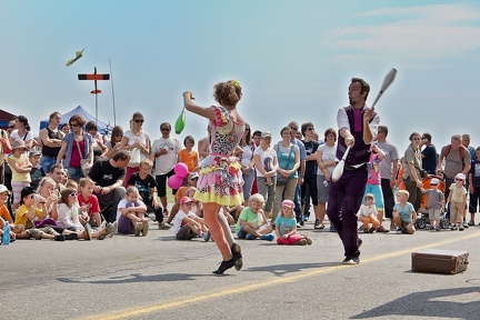
[[[149,230],[148,219],[144,217],[147,206],[139,199],[140,194],[136,187],[128,187],[126,199],[122,199],[118,204],[117,222],[118,232],[124,234],[140,233],[144,237]]]

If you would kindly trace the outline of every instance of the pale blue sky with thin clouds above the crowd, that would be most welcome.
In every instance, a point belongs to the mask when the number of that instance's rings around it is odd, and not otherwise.
[[[274,141],[289,121],[311,121],[322,136],[348,104],[350,78],[370,82],[372,102],[396,68],[377,111],[400,153],[413,131],[437,147],[467,132],[480,143],[478,1],[0,0],[0,108],[34,132],[56,110],[94,114],[93,83],[77,74],[109,73],[111,59],[117,124],[140,111],[153,139],[184,90],[212,104],[213,84],[228,79],[242,84],[238,108],[253,130]],[[99,89],[99,118],[113,124],[111,82]],[[187,114],[179,138],[201,138],[206,123]]]

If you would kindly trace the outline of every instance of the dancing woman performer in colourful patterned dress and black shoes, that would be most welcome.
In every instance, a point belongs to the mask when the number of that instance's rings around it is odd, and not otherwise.
[[[232,157],[242,133],[244,120],[237,112],[241,87],[234,80],[214,86],[214,98],[220,106],[204,108],[192,102],[192,93],[183,92],[187,110],[210,120],[212,133],[211,153],[200,162],[200,178],[194,199],[203,202],[203,217],[222,256],[220,267],[213,273],[221,274],[243,266],[241,248],[231,236],[227,218],[219,213],[221,206],[240,204],[243,200],[240,163]]]

